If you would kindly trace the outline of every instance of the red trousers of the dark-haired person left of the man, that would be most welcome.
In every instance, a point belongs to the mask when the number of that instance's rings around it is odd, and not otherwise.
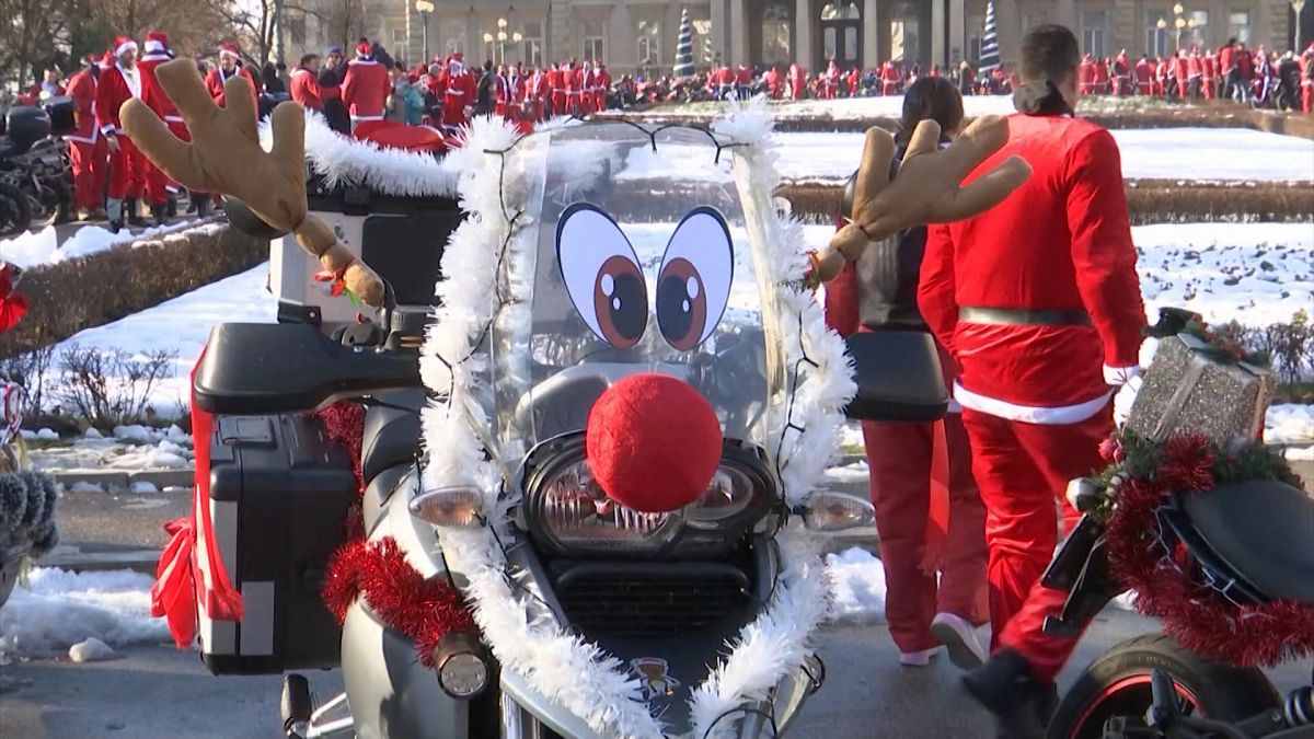
[[[984,623],[987,615],[986,508],[972,480],[971,448],[958,414],[945,417],[949,526],[938,556],[926,552],[934,430],[934,423],[862,423],[886,571],[886,621],[903,652],[940,646],[930,634],[937,613],[971,623]]]

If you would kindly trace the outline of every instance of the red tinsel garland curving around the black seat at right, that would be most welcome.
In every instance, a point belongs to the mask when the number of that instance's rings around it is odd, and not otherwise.
[[[1204,437],[1179,437],[1163,446],[1154,476],[1127,477],[1114,493],[1105,544],[1113,573],[1135,590],[1135,606],[1158,617],[1164,634],[1184,647],[1240,667],[1272,665],[1314,654],[1314,605],[1271,601],[1238,606],[1193,581],[1158,546],[1155,509],[1167,496],[1214,487],[1215,454]]]

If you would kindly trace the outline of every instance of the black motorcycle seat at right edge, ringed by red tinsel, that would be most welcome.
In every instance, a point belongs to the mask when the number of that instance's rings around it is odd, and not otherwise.
[[[1314,602],[1314,498],[1276,480],[1181,496],[1190,525],[1269,598]]]

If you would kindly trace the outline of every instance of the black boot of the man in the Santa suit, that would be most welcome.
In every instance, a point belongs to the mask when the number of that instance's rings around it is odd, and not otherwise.
[[[1058,689],[1037,680],[1022,655],[1000,650],[964,675],[963,686],[995,714],[999,739],[1045,739],[1045,727],[1058,707]]]

